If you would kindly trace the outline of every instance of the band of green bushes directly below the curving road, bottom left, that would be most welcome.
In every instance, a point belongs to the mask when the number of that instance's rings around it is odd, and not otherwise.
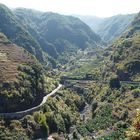
[[[82,98],[70,90],[63,89],[54,98],[49,98],[39,112],[20,120],[0,120],[0,139],[46,138],[49,133],[69,133],[70,127],[80,121],[79,108]],[[14,134],[14,135],[13,135]]]

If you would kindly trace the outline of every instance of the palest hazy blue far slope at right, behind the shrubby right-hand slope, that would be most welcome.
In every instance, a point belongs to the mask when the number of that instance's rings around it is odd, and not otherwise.
[[[131,24],[134,16],[135,14],[130,14],[117,15],[107,18],[98,25],[96,32],[107,43],[111,42],[127,29],[127,27]]]

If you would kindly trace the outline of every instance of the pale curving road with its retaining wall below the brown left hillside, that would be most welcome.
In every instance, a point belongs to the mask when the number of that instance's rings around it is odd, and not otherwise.
[[[48,95],[44,96],[42,102],[38,106],[32,107],[32,108],[24,110],[24,111],[18,111],[18,112],[12,112],[12,113],[0,113],[0,116],[3,116],[5,118],[10,118],[10,119],[13,119],[13,118],[18,118],[19,119],[19,118],[24,117],[25,115],[31,114],[34,111],[39,110],[40,107],[43,106],[46,103],[47,99],[50,96],[53,96],[61,87],[62,87],[62,85],[59,84],[56,89],[54,89]]]

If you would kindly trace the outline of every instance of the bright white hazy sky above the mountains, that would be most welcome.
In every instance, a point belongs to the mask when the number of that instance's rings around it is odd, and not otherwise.
[[[109,17],[140,11],[140,0],[0,0],[11,8],[25,7],[63,14]]]

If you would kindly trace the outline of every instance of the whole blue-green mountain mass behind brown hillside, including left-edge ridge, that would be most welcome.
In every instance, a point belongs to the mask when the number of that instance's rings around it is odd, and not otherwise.
[[[10,10],[0,5],[0,19],[0,32],[10,41],[25,48],[40,62],[51,62],[54,67],[56,61],[67,62],[69,55],[78,49],[102,44],[96,33],[72,16],[24,8]]]

